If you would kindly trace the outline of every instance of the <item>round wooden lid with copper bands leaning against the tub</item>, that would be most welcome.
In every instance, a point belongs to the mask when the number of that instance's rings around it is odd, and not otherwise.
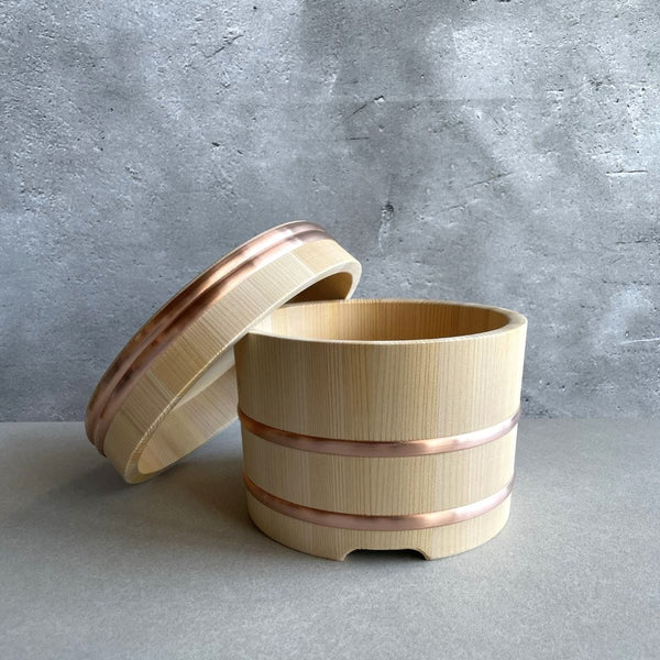
[[[234,344],[287,301],[350,297],[360,274],[311,222],[280,224],[237,248],[113,360],[87,407],[89,440],[129,483],[168,468],[235,419]]]

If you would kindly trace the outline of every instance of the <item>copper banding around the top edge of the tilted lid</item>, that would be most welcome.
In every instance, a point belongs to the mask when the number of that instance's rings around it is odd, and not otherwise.
[[[97,449],[103,453],[106,432],[127,395],[183,329],[255,271],[299,245],[329,238],[311,222],[275,227],[237,248],[166,302],[127,343],[91,396],[85,422]]]

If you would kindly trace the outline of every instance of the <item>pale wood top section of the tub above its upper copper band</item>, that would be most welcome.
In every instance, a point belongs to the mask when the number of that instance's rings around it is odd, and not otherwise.
[[[235,346],[241,408],[278,429],[346,440],[493,426],[520,403],[526,321],[506,315],[411,300],[287,306]],[[453,337],[471,328],[486,331]]]

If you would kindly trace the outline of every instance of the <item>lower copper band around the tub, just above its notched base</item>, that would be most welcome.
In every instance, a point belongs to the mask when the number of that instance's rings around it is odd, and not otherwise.
[[[471,518],[476,518],[483,514],[493,510],[499,506],[512,493],[514,480],[502,488],[479,502],[465,504],[443,512],[432,512],[430,514],[409,514],[406,516],[362,516],[356,514],[340,514],[337,512],[326,512],[294,504],[282,499],[271,493],[260,488],[245,473],[243,473],[248,492],[268,508],[289,516],[312,522],[314,525],[323,525],[324,527],[339,527],[341,529],[356,529],[361,531],[407,531],[414,529],[428,529],[430,527],[443,527],[444,525],[454,525],[463,522]]]

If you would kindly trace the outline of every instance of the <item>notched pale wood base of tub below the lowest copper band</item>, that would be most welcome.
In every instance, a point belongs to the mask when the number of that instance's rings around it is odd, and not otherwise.
[[[248,493],[252,521],[275,541],[316,557],[343,561],[353,550],[417,550],[441,559],[476,548],[495,537],[509,516],[510,495],[492,510],[453,525],[406,531],[362,531],[316,525],[265,506]]]

